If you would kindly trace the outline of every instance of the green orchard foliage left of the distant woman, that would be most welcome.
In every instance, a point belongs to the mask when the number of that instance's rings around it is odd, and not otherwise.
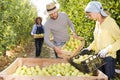
[[[29,0],[0,0],[0,54],[30,39],[35,16]]]

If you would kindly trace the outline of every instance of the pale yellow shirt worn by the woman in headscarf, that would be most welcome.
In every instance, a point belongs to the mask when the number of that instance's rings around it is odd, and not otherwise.
[[[120,28],[110,16],[106,17],[101,25],[96,22],[94,41],[89,47],[98,53],[109,45],[112,45],[112,47],[109,49],[107,56],[116,58],[116,51],[120,50]]]

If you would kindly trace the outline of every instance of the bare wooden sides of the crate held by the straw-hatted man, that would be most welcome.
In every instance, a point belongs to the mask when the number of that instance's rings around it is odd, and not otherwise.
[[[71,57],[77,55],[80,52],[80,50],[84,47],[85,39],[83,37],[77,36],[77,37],[74,37],[74,38],[80,40],[81,41],[81,45],[76,50],[74,50],[72,52],[71,51],[62,50],[63,54],[58,54],[59,57],[62,57],[62,58],[65,58],[65,59],[66,58],[71,58]]]

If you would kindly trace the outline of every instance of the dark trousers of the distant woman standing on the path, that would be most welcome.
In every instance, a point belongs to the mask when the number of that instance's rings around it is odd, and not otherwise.
[[[40,56],[44,38],[35,39],[36,57]]]

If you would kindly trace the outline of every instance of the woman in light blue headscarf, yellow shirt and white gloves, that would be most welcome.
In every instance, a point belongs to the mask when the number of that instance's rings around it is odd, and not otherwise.
[[[120,29],[115,20],[106,14],[98,1],[91,1],[85,8],[85,13],[95,20],[94,40],[82,52],[93,50],[104,59],[106,64],[100,70],[112,79],[115,76],[116,52],[120,49]]]

